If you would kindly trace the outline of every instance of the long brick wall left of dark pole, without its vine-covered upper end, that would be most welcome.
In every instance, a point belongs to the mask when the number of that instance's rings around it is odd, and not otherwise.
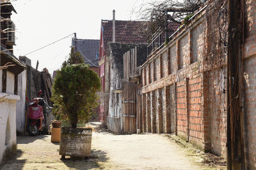
[[[222,130],[227,128],[223,109],[227,101],[223,101],[225,96],[220,90],[225,85],[225,73],[205,76],[205,43],[209,39],[205,38],[207,21],[203,16],[204,11],[141,67],[142,97],[147,105],[143,110],[143,132],[175,132],[196,146],[225,157],[227,139]],[[218,78],[221,86],[216,94],[214,82]],[[216,98],[222,102],[222,111],[209,110]],[[207,103],[210,99],[213,101]],[[220,117],[215,118],[216,114]]]

